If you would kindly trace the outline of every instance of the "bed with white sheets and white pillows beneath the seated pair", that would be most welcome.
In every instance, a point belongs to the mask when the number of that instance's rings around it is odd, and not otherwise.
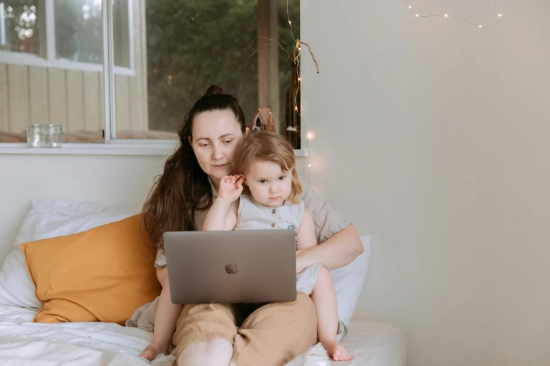
[[[41,304],[18,244],[87,231],[128,215],[96,205],[53,201],[33,201],[31,206],[15,243],[8,246],[11,252],[0,257],[0,366],[172,365],[171,355],[161,355],[153,362],[138,357],[152,339],[151,332],[138,327],[108,322],[33,323]],[[405,365],[405,337],[398,328],[368,320],[350,321],[369,262],[368,237],[362,240],[365,253],[347,268],[332,271],[339,318],[348,323],[343,344],[354,359],[332,362],[317,345],[287,366]]]

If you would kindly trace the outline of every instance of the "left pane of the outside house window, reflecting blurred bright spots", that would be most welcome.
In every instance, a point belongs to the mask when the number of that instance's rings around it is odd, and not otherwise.
[[[40,53],[37,1],[0,1],[0,50]]]

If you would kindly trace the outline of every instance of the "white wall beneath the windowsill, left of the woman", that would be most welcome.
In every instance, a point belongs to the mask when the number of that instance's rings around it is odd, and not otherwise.
[[[0,154],[0,262],[32,199],[131,205],[145,202],[164,156]]]

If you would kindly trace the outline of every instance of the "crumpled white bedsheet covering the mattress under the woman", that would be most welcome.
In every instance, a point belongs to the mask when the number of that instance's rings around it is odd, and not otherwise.
[[[0,306],[1,366],[69,365],[155,365],[170,366],[173,356],[153,362],[138,358],[152,334],[112,323],[32,323],[30,309]],[[405,341],[391,325],[352,321],[343,344],[351,351],[351,362],[329,362],[306,351],[287,366],[404,366]],[[309,354],[309,355],[308,355]]]

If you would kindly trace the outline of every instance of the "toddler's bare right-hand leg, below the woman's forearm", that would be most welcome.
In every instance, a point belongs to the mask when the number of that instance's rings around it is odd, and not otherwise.
[[[317,283],[311,293],[313,305],[317,312],[317,334],[330,357],[335,361],[351,360],[346,348],[336,340],[338,332],[338,307],[336,304],[336,291],[332,277],[326,267],[322,267]]]

